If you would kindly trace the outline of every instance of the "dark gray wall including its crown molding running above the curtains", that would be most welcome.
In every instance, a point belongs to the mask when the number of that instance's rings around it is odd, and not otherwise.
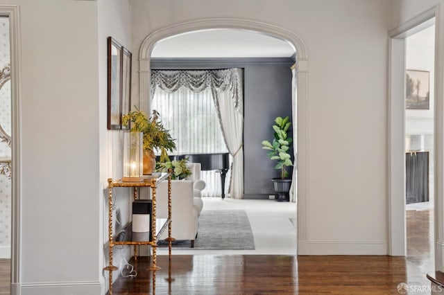
[[[274,169],[275,161],[266,157],[267,151],[262,149],[261,143],[264,140],[273,140],[271,126],[277,116],[289,116],[291,120],[290,66],[293,63],[293,57],[151,60],[151,69],[230,67],[244,69],[244,197],[246,199],[268,199],[268,195],[274,195],[270,179],[279,177],[279,170]]]

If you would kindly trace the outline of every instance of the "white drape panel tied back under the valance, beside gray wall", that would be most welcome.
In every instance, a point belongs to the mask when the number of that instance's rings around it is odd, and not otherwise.
[[[217,93],[217,105],[219,105],[225,143],[232,155],[230,197],[242,199],[244,197],[244,116],[234,107],[230,89]]]

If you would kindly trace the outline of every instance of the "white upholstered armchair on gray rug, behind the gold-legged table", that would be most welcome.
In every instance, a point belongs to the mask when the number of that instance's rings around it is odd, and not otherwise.
[[[200,179],[200,163],[189,163],[193,174],[189,179],[171,181],[171,236],[176,240],[194,239],[198,233],[199,215],[203,208],[201,191],[205,181]],[[163,181],[156,190],[157,216],[168,217],[168,183]],[[160,239],[168,237],[164,232]]]

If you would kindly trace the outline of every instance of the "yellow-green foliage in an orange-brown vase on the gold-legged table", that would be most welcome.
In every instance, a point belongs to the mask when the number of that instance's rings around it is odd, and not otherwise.
[[[159,113],[155,110],[149,119],[144,111],[130,111],[122,116],[122,124],[126,127],[130,125],[130,131],[144,134],[144,175],[151,175],[155,169],[155,149],[160,151],[160,161],[169,159],[168,152],[176,150],[174,139],[160,122]]]

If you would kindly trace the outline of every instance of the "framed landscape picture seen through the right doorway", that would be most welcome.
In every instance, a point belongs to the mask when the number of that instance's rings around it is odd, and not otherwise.
[[[406,70],[405,75],[406,109],[430,108],[430,73],[429,71]]]

